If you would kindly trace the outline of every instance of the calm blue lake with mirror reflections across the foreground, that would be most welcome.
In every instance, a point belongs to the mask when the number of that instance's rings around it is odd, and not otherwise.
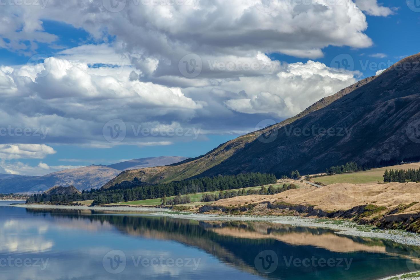
[[[4,279],[376,279],[420,248],[267,222],[0,206]]]

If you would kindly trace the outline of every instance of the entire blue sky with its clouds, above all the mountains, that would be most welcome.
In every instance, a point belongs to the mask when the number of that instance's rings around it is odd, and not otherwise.
[[[419,52],[420,6],[414,0],[337,0],[328,7],[313,0],[263,13],[240,1],[202,0],[199,10],[130,1],[118,12],[103,1],[55,0],[45,8],[6,5],[0,12],[15,24],[0,29],[5,77],[0,127],[49,128],[45,139],[0,136],[0,173],[37,175],[141,157],[196,157]],[[286,0],[274,1],[281,6]],[[205,13],[207,5],[220,8],[213,18]],[[291,28],[296,30],[289,34]],[[34,55],[44,70],[34,68]],[[191,55],[202,69],[183,76],[181,57],[191,62]],[[244,71],[249,61],[273,71]],[[241,68],[211,67],[230,62]],[[36,73],[26,72],[27,66]],[[127,126],[122,141],[102,135],[112,120]],[[182,128],[184,134],[136,136],[133,126]],[[189,128],[199,135],[186,135]]]

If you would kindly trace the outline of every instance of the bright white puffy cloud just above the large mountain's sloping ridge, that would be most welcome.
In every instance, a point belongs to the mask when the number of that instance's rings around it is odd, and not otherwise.
[[[242,84],[248,85],[249,98],[230,99],[225,104],[241,113],[266,113],[286,118],[356,81],[354,72],[338,71],[309,60],[307,63],[289,64],[277,76],[265,81],[241,79]],[[224,85],[224,88],[231,89],[230,84]]]

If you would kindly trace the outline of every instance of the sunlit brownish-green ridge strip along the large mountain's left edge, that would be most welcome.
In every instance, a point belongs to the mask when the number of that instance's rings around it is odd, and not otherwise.
[[[150,167],[150,168],[142,168],[138,170],[127,170],[120,173],[117,177],[113,178],[111,181],[106,183],[103,188],[110,188],[114,186],[116,183],[121,183],[123,181],[133,181],[134,178],[138,178],[142,182],[147,183],[165,183],[169,181],[180,181],[187,178],[191,178],[195,175],[198,175],[205,170],[214,167],[224,160],[231,157],[236,152],[240,151],[245,147],[246,144],[254,141],[260,135],[268,134],[282,126],[286,126],[295,120],[303,118],[304,116],[320,110],[332,102],[340,99],[341,97],[353,92],[355,89],[358,89],[360,86],[363,86],[373,79],[376,76],[372,76],[361,81],[358,81],[351,86],[342,89],[341,91],[333,94],[331,96],[325,97],[317,102],[315,102],[310,107],[306,108],[302,113],[298,115],[283,120],[281,123],[277,123],[273,126],[269,126],[259,131],[255,131],[252,133],[248,133],[246,135],[240,136],[234,140],[228,141],[224,144],[221,144],[219,147],[213,149],[212,151],[208,152],[207,154],[196,157],[193,159],[184,160],[182,162],[178,162],[176,164],[170,166],[160,166],[160,167]]]

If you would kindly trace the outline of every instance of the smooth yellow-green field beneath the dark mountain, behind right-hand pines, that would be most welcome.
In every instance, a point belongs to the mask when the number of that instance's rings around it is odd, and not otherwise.
[[[378,181],[383,182],[383,173],[387,169],[395,170],[395,169],[409,169],[409,168],[417,168],[417,169],[420,168],[420,162],[375,168],[375,169],[367,170],[367,171],[311,178],[311,181],[321,182],[321,183],[324,183],[325,185],[330,185],[334,183],[351,183],[351,184],[377,183]]]

